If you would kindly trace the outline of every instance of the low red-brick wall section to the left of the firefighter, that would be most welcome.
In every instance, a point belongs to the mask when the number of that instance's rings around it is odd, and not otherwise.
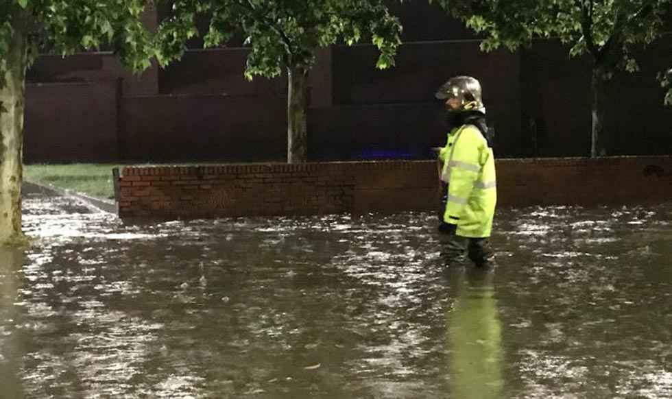
[[[431,208],[431,162],[129,167],[121,217],[315,215]]]

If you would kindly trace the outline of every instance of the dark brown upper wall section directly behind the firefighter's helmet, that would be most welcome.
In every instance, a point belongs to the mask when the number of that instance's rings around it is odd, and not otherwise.
[[[370,45],[334,47],[335,104],[436,101],[436,89],[454,75],[481,80],[485,101],[519,96],[518,56],[483,53],[475,42],[402,45],[396,66],[384,71],[375,68],[377,59],[378,51]]]

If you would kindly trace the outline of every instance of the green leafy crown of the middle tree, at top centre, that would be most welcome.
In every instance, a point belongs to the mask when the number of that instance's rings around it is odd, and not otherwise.
[[[197,32],[199,16],[209,19],[208,32]],[[370,38],[383,69],[394,65],[400,32],[383,0],[175,0],[159,28],[158,59],[165,65],[180,58],[184,43],[199,34],[206,47],[242,34],[251,47],[245,76],[274,77],[289,66],[310,69],[320,47]]]

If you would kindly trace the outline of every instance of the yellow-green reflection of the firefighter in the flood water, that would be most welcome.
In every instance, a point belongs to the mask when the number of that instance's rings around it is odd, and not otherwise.
[[[458,296],[446,320],[451,398],[500,398],[503,354],[492,272],[466,268],[454,277]]]

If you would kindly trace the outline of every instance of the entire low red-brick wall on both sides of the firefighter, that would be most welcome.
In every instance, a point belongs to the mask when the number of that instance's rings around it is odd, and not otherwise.
[[[672,199],[672,156],[502,159],[500,206]],[[434,210],[433,161],[127,167],[119,216],[158,219]]]

